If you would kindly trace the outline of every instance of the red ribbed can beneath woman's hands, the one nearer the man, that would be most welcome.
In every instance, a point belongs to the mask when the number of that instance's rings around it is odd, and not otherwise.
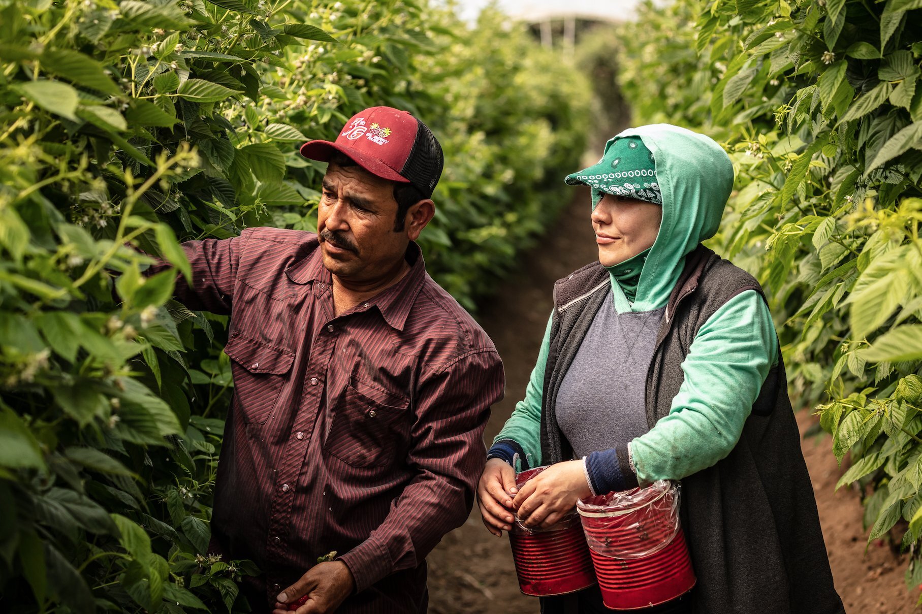
[[[515,476],[520,489],[546,469],[539,466]],[[531,596],[566,595],[596,584],[579,515],[568,514],[550,529],[529,529],[516,518],[509,531],[519,589]]]

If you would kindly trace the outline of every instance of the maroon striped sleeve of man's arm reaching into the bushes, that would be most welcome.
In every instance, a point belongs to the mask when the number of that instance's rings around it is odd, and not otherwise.
[[[192,267],[192,279],[177,277],[173,290],[176,299],[195,311],[230,315],[244,241],[240,236],[183,242],[183,252]],[[170,267],[170,263],[160,261],[144,274],[149,277]]]

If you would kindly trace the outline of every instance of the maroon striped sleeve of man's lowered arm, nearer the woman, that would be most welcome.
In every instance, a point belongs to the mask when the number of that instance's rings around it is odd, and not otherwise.
[[[419,566],[446,533],[467,520],[486,462],[483,429],[504,384],[502,361],[493,348],[468,352],[423,380],[408,453],[417,475],[384,522],[339,557],[355,579],[356,592]]]

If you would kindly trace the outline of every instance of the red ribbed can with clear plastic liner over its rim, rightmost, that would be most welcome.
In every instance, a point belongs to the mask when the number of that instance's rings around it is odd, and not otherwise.
[[[577,502],[607,608],[650,608],[694,586],[679,496],[679,482],[660,480]]]

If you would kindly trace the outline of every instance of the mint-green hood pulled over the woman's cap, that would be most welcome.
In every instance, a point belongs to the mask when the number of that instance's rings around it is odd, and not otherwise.
[[[632,304],[618,284],[612,286],[620,313],[648,312],[666,306],[685,256],[715,235],[733,189],[733,164],[712,138],[676,125],[629,128],[612,137],[606,149],[625,136],[639,136],[653,153],[663,221],[644,259]]]

